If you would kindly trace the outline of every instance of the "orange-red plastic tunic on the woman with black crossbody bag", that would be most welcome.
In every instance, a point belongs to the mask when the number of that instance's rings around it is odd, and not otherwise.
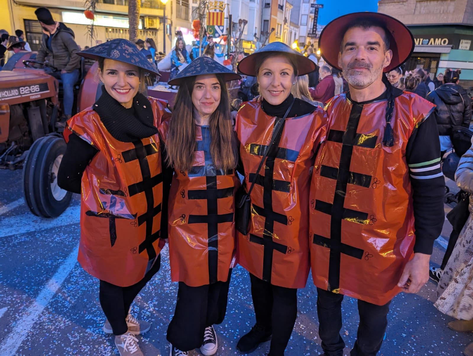
[[[281,120],[264,113],[256,102],[238,111],[236,134],[246,189]],[[251,192],[250,231],[246,236],[237,232],[237,259],[248,272],[273,285],[303,288],[310,269],[310,176],[315,151],[325,137],[326,118],[315,109],[286,118],[283,125]]]

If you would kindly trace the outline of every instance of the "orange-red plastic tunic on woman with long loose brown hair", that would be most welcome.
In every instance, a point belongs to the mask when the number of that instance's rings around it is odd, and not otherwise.
[[[165,138],[166,131],[162,130]],[[171,279],[191,287],[228,279],[235,249],[234,196],[239,185],[234,169],[213,166],[210,127],[196,125],[195,131],[193,167],[175,170],[168,205]]]

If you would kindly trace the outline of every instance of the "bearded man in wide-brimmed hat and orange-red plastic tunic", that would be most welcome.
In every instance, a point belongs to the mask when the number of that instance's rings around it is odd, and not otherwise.
[[[329,23],[324,60],[349,92],[327,103],[330,128],[315,159],[309,201],[311,267],[324,355],[343,355],[343,295],[358,299],[351,355],[376,355],[396,294],[429,280],[444,221],[444,178],[434,106],[394,88],[385,72],[411,55],[411,32],[390,16],[359,12]]]

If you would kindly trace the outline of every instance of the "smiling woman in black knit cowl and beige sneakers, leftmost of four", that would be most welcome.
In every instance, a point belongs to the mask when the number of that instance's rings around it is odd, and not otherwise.
[[[100,280],[103,329],[115,335],[120,355],[142,355],[135,335],[150,325],[129,309],[158,271],[165,244],[170,180],[158,128],[171,112],[166,101],[140,93],[145,72],[159,73],[130,41],[78,54],[98,62],[102,95],[67,123],[58,184],[81,195],[78,260]]]

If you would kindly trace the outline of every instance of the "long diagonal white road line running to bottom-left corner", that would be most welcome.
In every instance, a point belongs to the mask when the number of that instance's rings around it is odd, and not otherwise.
[[[64,260],[56,274],[43,287],[33,304],[31,304],[30,307],[23,313],[21,318],[16,321],[15,327],[0,345],[0,354],[2,356],[16,354],[18,347],[20,347],[23,340],[25,340],[25,338],[28,336],[28,333],[33,328],[36,320],[38,320],[44,308],[48,305],[51,299],[53,299],[53,296],[56,294],[62,282],[64,282],[64,279],[66,279],[76,264],[78,250],[79,246],[77,246],[70,253],[68,258]]]

